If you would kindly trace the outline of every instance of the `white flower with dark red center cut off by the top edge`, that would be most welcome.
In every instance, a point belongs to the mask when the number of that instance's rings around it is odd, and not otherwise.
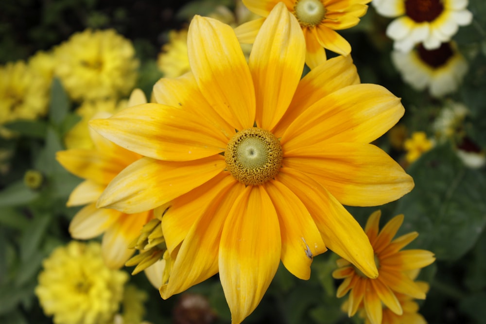
[[[472,14],[468,0],[373,0],[376,11],[385,17],[398,17],[386,29],[398,51],[411,51],[423,43],[434,50],[457,33],[458,26],[469,25]]]

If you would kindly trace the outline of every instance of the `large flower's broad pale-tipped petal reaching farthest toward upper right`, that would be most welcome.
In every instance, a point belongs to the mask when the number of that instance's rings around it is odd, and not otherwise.
[[[381,85],[349,85],[306,109],[283,134],[287,150],[324,142],[369,143],[403,116],[400,99]]]

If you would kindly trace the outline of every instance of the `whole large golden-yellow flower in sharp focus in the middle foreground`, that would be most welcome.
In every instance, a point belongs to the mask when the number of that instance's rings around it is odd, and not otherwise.
[[[310,276],[335,251],[371,277],[373,251],[341,205],[380,205],[413,181],[368,144],[403,115],[397,97],[361,85],[350,57],[300,80],[305,39],[283,4],[246,63],[232,28],[196,16],[191,73],[161,79],[157,103],[90,124],[145,157],[108,185],[98,206],[139,212],[167,204],[162,232],[175,257],[163,298],[220,274],[233,323],[258,305],[280,260]]]

